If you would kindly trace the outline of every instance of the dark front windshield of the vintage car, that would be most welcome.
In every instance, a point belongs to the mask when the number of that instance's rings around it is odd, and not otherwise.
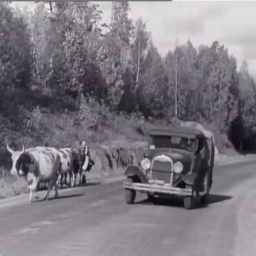
[[[152,136],[150,145],[154,148],[177,148],[192,152],[195,140],[177,136]]]

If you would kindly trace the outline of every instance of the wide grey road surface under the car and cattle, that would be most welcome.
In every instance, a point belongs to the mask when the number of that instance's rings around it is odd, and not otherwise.
[[[210,204],[191,211],[141,194],[127,205],[120,181],[63,189],[48,202],[8,199],[0,204],[0,255],[255,256],[255,164],[216,166]]]

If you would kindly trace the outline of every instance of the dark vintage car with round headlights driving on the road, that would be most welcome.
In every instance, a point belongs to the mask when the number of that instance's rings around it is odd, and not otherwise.
[[[130,165],[125,171],[126,203],[133,204],[138,191],[153,202],[156,196],[180,196],[186,209],[192,209],[196,199],[207,204],[214,166],[213,138],[180,126],[154,127],[148,135],[148,152],[138,166]]]

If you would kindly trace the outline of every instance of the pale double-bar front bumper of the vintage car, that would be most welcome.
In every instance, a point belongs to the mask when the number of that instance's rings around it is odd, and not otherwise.
[[[170,185],[157,185],[124,181],[124,188],[140,192],[161,193],[168,195],[192,196],[192,188],[175,188]]]

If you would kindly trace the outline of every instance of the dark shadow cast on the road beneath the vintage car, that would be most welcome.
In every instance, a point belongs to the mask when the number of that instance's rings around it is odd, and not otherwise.
[[[231,198],[233,198],[233,196],[211,194],[209,196],[208,205],[226,201]],[[161,206],[182,207],[182,208],[184,207],[183,200],[181,198],[177,198],[177,197],[171,197],[171,198],[156,197],[153,200],[148,200],[148,199],[140,200],[140,201],[135,202],[134,204],[146,204],[146,205],[156,204],[156,205],[161,205]],[[195,204],[195,209],[196,208],[206,208],[206,207],[207,207],[207,205],[200,204],[200,202],[198,202],[198,201]]]

